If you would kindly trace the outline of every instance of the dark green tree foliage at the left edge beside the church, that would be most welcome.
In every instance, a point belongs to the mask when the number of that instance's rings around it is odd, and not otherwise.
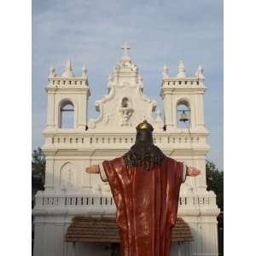
[[[45,155],[41,148],[32,152],[32,188],[44,190]]]

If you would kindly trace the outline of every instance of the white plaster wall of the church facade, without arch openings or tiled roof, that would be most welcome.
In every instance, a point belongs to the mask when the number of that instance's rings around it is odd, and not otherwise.
[[[35,219],[34,256],[70,256],[70,255],[109,255],[105,245],[94,243],[64,242],[64,236],[71,219],[75,215],[111,215],[115,213],[113,205],[65,205],[64,201],[72,198],[110,197],[108,183],[102,183],[99,175],[90,175],[85,171],[87,166],[113,159],[124,154],[135,142],[136,125],[147,119],[154,125],[154,137],[167,156],[184,161],[188,166],[201,170],[200,177],[187,177],[181,188],[181,205],[178,215],[190,226],[195,241],[182,245],[182,255],[202,255],[201,253],[217,253],[217,221],[218,208],[212,193],[206,191],[205,159],[209,150],[206,137],[208,131],[204,125],[203,93],[205,87],[201,80],[184,78],[194,84],[184,86],[168,85],[168,81],[177,81],[167,75],[161,85],[161,96],[164,101],[166,131],[160,115],[153,119],[152,111],[156,109],[154,100],[143,96],[143,82],[137,73],[137,67],[131,64],[129,57],[122,58],[114,67],[108,82],[107,96],[96,102],[99,117],[87,124],[87,100],[90,90],[86,79],[83,85],[56,85],[54,80],[69,81],[69,78],[49,79],[47,124],[44,130],[44,153],[46,154],[46,181],[44,193],[38,193],[36,207],[33,211]],[[73,78],[72,81],[75,81]],[[73,83],[73,82],[72,82]],[[133,112],[129,125],[120,126],[120,102],[126,96],[130,99]],[[70,99],[74,104],[74,129],[59,129],[59,103]],[[187,129],[177,129],[177,101],[187,99],[191,108],[190,135]],[[190,139],[193,141],[190,141]],[[102,142],[104,139],[104,143]],[[114,143],[113,138],[116,138]],[[72,142],[70,142],[72,139]],[[109,139],[109,143],[108,143]],[[119,142],[119,139],[122,142]],[[127,139],[127,142],[125,142]],[[132,142],[131,142],[132,139]],[[64,142],[65,140],[65,142]],[[83,141],[82,141],[83,140]],[[61,176],[61,168],[69,165],[72,177]],[[64,167],[65,168],[65,167]],[[62,180],[63,179],[63,180]],[[63,190],[63,184],[68,184]],[[65,187],[65,186],[64,186]],[[207,201],[207,203],[206,203]],[[197,202],[199,202],[197,204]],[[173,243],[172,255],[177,255],[177,244]]]

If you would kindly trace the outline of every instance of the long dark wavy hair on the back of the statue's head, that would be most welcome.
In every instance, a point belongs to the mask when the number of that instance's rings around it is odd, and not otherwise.
[[[160,166],[165,154],[153,143],[152,132],[147,129],[137,130],[135,144],[123,155],[126,168],[143,167],[151,170]]]

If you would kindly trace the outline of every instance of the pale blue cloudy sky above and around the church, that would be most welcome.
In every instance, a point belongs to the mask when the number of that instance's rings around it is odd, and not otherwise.
[[[193,76],[201,65],[206,77],[205,119],[211,146],[208,159],[223,169],[223,3],[194,1],[32,0],[32,149],[42,146],[46,121],[49,67],[63,71],[68,59],[73,72],[88,69],[91,96],[89,118],[96,117],[95,101],[107,92],[108,74],[119,61],[121,45],[143,77],[144,93],[160,98],[161,69],[171,76],[183,60]]]

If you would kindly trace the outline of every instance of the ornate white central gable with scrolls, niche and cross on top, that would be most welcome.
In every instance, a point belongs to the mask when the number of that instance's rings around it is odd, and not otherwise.
[[[89,120],[89,129],[134,131],[138,123],[147,119],[155,130],[160,130],[164,125],[160,111],[157,110],[156,119],[152,116],[157,104],[143,96],[143,79],[127,54],[130,47],[124,44],[122,49],[124,55],[109,75],[108,95],[96,101],[96,111],[100,116]]]

